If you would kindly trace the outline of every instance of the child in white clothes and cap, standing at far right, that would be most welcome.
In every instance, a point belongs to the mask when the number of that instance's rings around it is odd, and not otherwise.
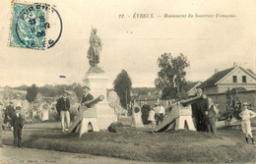
[[[239,116],[242,118],[242,122],[241,122],[242,132],[245,134],[245,139],[247,144],[249,143],[248,136],[251,137],[252,144],[255,144],[252,133],[251,133],[250,119],[256,117],[256,114],[251,110],[248,110],[249,104],[247,102],[244,102],[242,106],[243,106],[242,112],[239,114]]]

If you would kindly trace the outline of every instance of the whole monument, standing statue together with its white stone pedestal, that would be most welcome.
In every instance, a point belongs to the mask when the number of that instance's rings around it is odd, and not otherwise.
[[[102,43],[96,31],[96,28],[92,28],[90,48],[87,54],[91,67],[86,73],[83,82],[91,88],[91,94],[95,97],[99,95],[105,97],[104,100],[96,104],[96,118],[99,129],[106,130],[111,123],[117,121],[117,116],[114,113],[114,109],[109,106],[109,102],[106,98],[108,77],[105,75],[104,71],[97,66],[99,63],[99,54],[102,50]]]

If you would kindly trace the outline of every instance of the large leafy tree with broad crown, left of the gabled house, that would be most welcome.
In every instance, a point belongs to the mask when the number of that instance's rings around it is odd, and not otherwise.
[[[189,66],[187,57],[180,53],[172,57],[170,53],[163,53],[158,59],[160,72],[155,85],[162,91],[162,99],[184,98],[186,85],[185,68]]]

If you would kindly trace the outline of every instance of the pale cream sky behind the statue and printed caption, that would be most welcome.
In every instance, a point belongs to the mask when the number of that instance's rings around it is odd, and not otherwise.
[[[19,1],[23,3],[23,1]],[[90,67],[87,51],[92,27],[102,40],[99,66],[112,87],[124,69],[133,86],[155,86],[158,58],[164,52],[187,56],[187,81],[206,81],[215,69],[230,68],[233,62],[256,72],[256,2],[238,0],[37,0],[55,5],[63,31],[50,49],[10,47],[12,6],[0,3],[0,86],[43,85],[81,82]],[[134,14],[154,14],[153,19],[133,18]],[[163,18],[186,15],[186,18]],[[194,18],[188,18],[188,15]],[[220,18],[216,15],[232,15]],[[124,15],[124,19],[118,18]],[[214,15],[195,18],[195,15]],[[160,17],[159,17],[160,16]],[[52,30],[58,33],[54,15]],[[55,24],[55,25],[54,25]],[[55,26],[55,28],[54,28]],[[56,30],[56,31],[55,31]],[[65,76],[66,79],[59,78]]]

